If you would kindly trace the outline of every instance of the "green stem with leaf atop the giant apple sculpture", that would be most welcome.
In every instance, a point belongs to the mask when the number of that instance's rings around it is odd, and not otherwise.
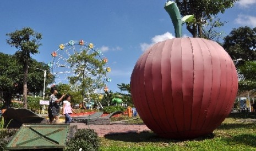
[[[182,34],[181,33],[182,23],[192,21],[194,18],[194,15],[187,15],[187,16],[184,16],[184,18],[181,18],[181,14],[179,13],[179,9],[176,3],[172,1],[167,1],[165,3],[165,10],[171,17],[172,24],[175,28],[175,37],[180,38]]]

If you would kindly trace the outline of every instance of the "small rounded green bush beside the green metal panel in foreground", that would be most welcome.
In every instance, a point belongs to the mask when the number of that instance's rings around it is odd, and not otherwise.
[[[67,141],[64,150],[99,150],[100,140],[97,133],[92,129],[78,129],[75,136]]]

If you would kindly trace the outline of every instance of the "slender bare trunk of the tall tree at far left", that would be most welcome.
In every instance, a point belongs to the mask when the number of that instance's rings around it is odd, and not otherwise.
[[[24,77],[23,77],[23,104],[24,104],[24,108],[28,108],[28,85],[27,85],[27,81],[28,81],[28,70],[29,70],[29,66],[28,66],[28,59],[25,60],[24,63]]]

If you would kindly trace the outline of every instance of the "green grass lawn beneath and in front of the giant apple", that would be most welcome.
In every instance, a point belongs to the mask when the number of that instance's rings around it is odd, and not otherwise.
[[[230,113],[213,135],[185,141],[153,132],[107,135],[100,138],[100,150],[256,150],[256,122],[242,122],[245,119],[256,119],[256,113]],[[129,123],[143,121],[135,118]]]

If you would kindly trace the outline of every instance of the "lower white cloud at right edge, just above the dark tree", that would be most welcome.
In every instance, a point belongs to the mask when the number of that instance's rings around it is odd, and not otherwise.
[[[256,17],[250,15],[238,15],[235,22],[239,25],[256,27]]]

